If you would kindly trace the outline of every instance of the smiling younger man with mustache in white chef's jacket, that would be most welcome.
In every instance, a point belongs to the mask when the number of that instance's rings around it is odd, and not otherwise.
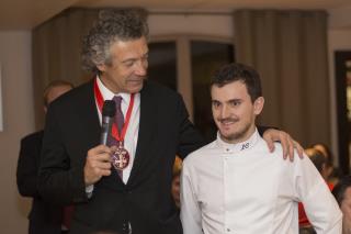
[[[298,233],[303,202],[317,233],[340,233],[341,212],[312,161],[273,155],[254,120],[263,109],[259,75],[230,64],[211,86],[217,140],[189,155],[181,177],[184,234]]]

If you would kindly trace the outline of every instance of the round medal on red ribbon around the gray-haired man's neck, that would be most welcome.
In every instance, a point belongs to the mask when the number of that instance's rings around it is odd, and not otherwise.
[[[97,102],[98,102],[99,110],[101,112],[102,111],[102,105],[103,105],[103,98],[102,98],[102,94],[101,94],[101,92],[99,90],[97,80],[94,82],[94,93],[95,93],[95,99],[97,99]],[[111,163],[112,163],[113,167],[116,170],[123,170],[129,164],[129,153],[123,146],[123,142],[124,142],[124,137],[125,137],[128,124],[129,124],[133,105],[134,105],[134,93],[131,94],[131,102],[129,102],[129,105],[128,105],[126,120],[125,120],[125,123],[123,124],[121,133],[118,132],[117,126],[116,126],[115,123],[112,125],[111,136],[118,143],[117,149],[111,156]]]

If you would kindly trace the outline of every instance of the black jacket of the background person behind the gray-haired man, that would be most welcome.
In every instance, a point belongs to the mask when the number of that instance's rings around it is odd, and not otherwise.
[[[63,209],[44,202],[37,190],[37,172],[44,132],[36,132],[21,141],[18,161],[18,187],[21,196],[33,198],[29,215],[30,234],[61,232]]]

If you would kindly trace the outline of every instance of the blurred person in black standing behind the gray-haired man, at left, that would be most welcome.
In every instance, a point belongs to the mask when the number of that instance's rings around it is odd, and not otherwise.
[[[52,81],[44,90],[44,111],[52,101],[71,90],[73,86],[64,80]],[[30,234],[60,234],[68,232],[71,207],[54,207],[43,201],[37,190],[37,172],[44,131],[32,133],[21,140],[16,169],[19,192],[33,198],[29,214]]]

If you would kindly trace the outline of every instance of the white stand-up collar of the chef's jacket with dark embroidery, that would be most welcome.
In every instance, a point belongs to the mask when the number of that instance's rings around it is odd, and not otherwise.
[[[223,149],[224,153],[238,153],[238,152],[244,152],[251,148],[259,141],[259,137],[260,137],[259,132],[256,129],[253,134],[247,141],[233,144],[233,143],[224,142],[220,138],[219,132],[217,132],[216,143],[217,143],[217,146],[220,149]]]

